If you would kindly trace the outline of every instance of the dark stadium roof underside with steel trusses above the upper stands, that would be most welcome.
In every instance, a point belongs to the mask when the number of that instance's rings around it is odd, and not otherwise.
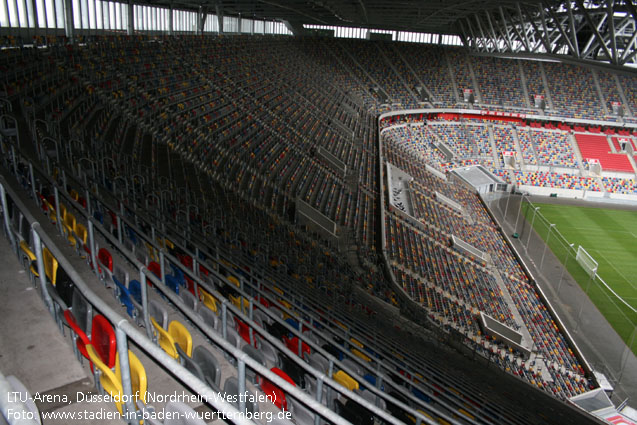
[[[152,5],[303,25],[457,35],[475,52],[637,66],[631,0],[155,0]]]

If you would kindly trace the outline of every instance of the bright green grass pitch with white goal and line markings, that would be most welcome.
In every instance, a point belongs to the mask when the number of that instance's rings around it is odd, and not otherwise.
[[[528,205],[528,204],[527,204]],[[603,209],[555,204],[535,204],[546,221],[534,221],[535,230],[546,241],[548,223],[577,249],[584,249],[598,262],[598,275],[630,306],[637,309],[637,211]],[[532,215],[532,210],[525,215]],[[593,282],[574,257],[567,258],[568,245],[555,232],[548,245],[557,258],[566,262],[569,273],[606,317],[619,335],[630,343],[637,313],[618,301],[603,285]],[[565,246],[566,245],[566,246]],[[565,261],[566,260],[566,261]],[[637,341],[632,350],[637,354]]]

